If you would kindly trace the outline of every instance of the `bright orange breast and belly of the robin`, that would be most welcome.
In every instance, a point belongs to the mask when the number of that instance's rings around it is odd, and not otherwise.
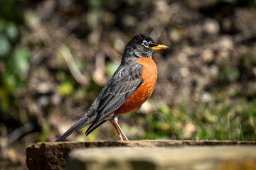
[[[115,112],[117,115],[139,110],[142,104],[154,91],[157,78],[156,63],[149,57],[140,57],[138,60],[135,60],[135,62],[139,62],[139,64],[143,65],[141,77],[142,86],[139,86],[139,89],[137,89],[137,91],[135,91],[135,93],[117,109]]]

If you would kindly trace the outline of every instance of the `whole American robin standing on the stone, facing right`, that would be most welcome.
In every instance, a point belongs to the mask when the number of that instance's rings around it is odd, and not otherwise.
[[[85,132],[85,135],[89,135],[107,120],[110,120],[114,126],[119,140],[128,140],[118,125],[118,116],[139,110],[151,96],[157,77],[152,53],[166,48],[168,47],[165,45],[157,45],[145,33],[135,35],[125,46],[117,71],[114,72],[92,106],[55,142],[60,142],[76,130],[91,124]]]

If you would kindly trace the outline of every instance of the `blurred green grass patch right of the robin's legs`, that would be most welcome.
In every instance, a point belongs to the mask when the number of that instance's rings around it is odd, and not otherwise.
[[[156,107],[146,114],[146,133],[139,139],[256,140],[256,100],[239,101],[235,107],[233,103],[178,109],[156,103]]]

